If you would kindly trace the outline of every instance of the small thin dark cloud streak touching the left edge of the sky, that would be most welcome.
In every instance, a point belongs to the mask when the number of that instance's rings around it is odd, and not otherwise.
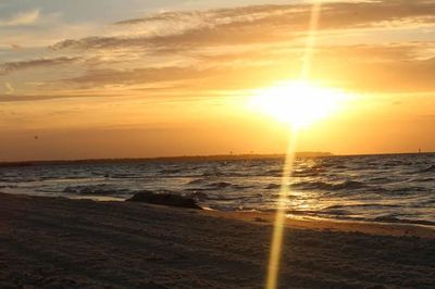
[[[0,75],[5,75],[14,71],[27,70],[34,67],[47,67],[53,65],[71,64],[79,61],[80,58],[54,58],[54,59],[37,59],[28,61],[5,62],[0,64]]]

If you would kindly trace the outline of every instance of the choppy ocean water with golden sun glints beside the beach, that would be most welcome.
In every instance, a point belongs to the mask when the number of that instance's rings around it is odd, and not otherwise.
[[[142,190],[223,211],[274,211],[284,160],[144,161],[0,167],[0,191],[125,200]],[[435,226],[435,154],[302,158],[289,215]]]

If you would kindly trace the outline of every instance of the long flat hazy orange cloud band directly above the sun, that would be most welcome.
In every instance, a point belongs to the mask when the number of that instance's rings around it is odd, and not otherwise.
[[[424,45],[424,43],[423,43]],[[349,89],[432,90],[433,59],[418,59],[420,43],[328,46],[315,50],[313,77]],[[297,77],[302,47],[262,47],[250,51],[196,55],[191,65],[94,68],[62,81],[79,88],[177,81],[179,89],[244,89]],[[346,60],[346,61],[337,61]],[[332,78],[334,77],[334,78]]]

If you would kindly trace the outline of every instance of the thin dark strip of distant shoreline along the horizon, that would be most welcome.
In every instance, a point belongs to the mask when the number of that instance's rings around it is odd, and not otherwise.
[[[333,154],[331,152],[298,152],[298,158],[327,158],[327,156],[371,156],[371,155],[418,155],[422,153],[373,153],[373,154]],[[17,161],[0,162],[0,167],[35,166],[35,165],[69,165],[69,164],[110,164],[110,163],[140,163],[140,162],[201,162],[201,161],[238,161],[238,160],[273,160],[284,159],[284,153],[271,154],[215,154],[215,155],[181,155],[157,158],[117,158],[117,159],[83,159],[83,160],[47,160],[47,161]]]

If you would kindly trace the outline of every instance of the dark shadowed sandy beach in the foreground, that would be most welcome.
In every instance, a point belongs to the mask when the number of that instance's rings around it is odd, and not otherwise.
[[[0,193],[0,288],[262,288],[272,219]],[[282,288],[434,285],[432,228],[287,223]]]

